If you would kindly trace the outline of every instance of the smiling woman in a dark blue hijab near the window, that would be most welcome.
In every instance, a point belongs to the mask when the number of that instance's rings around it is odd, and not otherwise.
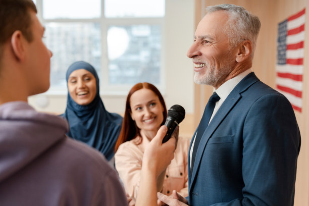
[[[67,108],[61,116],[68,120],[69,137],[99,150],[114,163],[114,148],[121,130],[122,117],[106,111],[99,95],[99,79],[88,63],[73,63],[66,75]]]

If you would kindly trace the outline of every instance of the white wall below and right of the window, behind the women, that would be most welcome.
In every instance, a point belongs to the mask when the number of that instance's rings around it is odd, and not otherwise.
[[[194,88],[192,61],[186,57],[194,35],[194,1],[166,0],[164,28],[166,105],[178,104],[187,114],[193,114]],[[105,107],[110,112],[124,113],[126,94],[102,94]],[[28,98],[38,111],[61,114],[65,111],[67,94],[39,94]]]

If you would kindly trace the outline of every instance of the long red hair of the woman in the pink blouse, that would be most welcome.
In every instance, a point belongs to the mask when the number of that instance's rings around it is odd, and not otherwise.
[[[141,142],[140,129],[136,126],[135,121],[132,120],[131,115],[130,115],[131,114],[130,98],[135,91],[142,89],[142,88],[150,89],[155,94],[157,94],[157,96],[159,97],[159,100],[160,100],[160,102],[161,102],[161,104],[164,108],[164,111],[163,111],[164,119],[163,119],[163,122],[162,122],[161,125],[164,125],[164,123],[166,121],[167,109],[166,109],[166,106],[165,106],[165,101],[163,99],[162,94],[157,89],[157,87],[155,85],[152,85],[152,84],[147,83],[147,82],[135,84],[131,88],[131,90],[129,91],[129,94],[127,96],[126,110],[125,110],[125,114],[124,114],[123,121],[122,121],[121,131],[120,131],[118,140],[117,140],[116,145],[115,145],[115,152],[117,151],[120,144],[122,144],[126,141],[130,141],[137,136],[140,138],[140,142]]]

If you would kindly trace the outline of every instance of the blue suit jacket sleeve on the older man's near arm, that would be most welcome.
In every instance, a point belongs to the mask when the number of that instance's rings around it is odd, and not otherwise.
[[[299,149],[300,133],[288,100],[279,93],[260,97],[244,121],[243,198],[212,206],[293,205]]]

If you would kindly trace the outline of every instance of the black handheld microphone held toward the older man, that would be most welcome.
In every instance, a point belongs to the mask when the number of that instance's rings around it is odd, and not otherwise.
[[[168,110],[166,122],[164,124],[168,128],[168,131],[163,138],[162,143],[167,142],[171,138],[178,124],[181,123],[181,121],[184,119],[185,114],[186,112],[184,108],[180,105],[173,105]]]

